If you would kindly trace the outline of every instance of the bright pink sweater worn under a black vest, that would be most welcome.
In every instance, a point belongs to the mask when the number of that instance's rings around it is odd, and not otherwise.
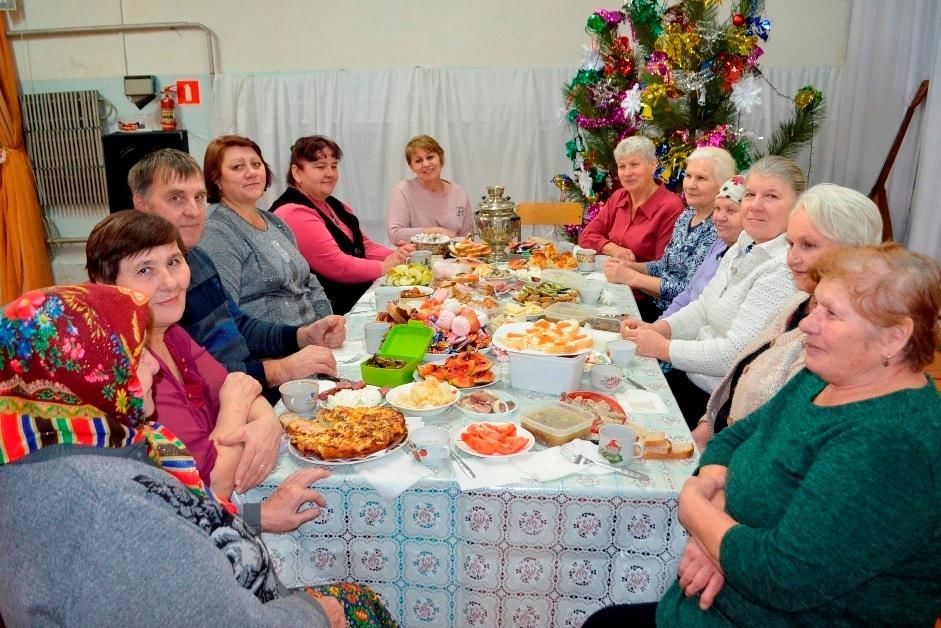
[[[327,216],[334,216],[333,210],[325,202],[314,201],[314,204]],[[353,213],[346,203],[343,203],[343,207]],[[341,251],[324,225],[323,219],[309,207],[289,203],[282,205],[274,213],[288,223],[297,238],[297,248],[314,272],[344,283],[364,283],[382,276],[382,260],[392,254],[392,249],[373,242],[365,232],[363,246],[366,249],[366,259],[362,259]],[[353,237],[345,224],[337,221],[337,226]]]

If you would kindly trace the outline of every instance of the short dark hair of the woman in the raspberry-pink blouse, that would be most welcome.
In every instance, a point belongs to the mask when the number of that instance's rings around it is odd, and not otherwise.
[[[121,260],[142,251],[176,244],[186,252],[180,232],[156,214],[125,209],[111,214],[92,229],[85,243],[85,270],[92,283],[113,285]]]

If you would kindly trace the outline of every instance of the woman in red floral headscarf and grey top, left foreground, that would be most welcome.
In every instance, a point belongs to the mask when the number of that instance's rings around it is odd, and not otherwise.
[[[148,421],[147,318],[144,295],[94,284],[30,292],[0,313],[3,621],[393,625],[368,589],[292,592],[274,572],[259,533],[319,516],[325,501],[309,485],[325,471],[294,473],[243,519],[173,432]]]

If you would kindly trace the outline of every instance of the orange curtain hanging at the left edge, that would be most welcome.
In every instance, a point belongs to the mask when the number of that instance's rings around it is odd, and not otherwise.
[[[16,63],[0,18],[0,305],[52,284],[46,231],[23,143]]]

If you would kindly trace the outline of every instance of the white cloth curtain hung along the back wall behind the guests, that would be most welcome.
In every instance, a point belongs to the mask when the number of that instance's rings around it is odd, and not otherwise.
[[[217,75],[212,131],[237,133],[261,146],[276,173],[262,199],[270,205],[285,188],[291,144],[303,135],[332,137],[344,152],[336,195],[386,241],[386,208],[395,183],[412,176],[405,143],[433,135],[445,149],[444,176],[476,205],[487,185],[505,185],[515,200],[554,200],[552,177],[571,172],[565,158],[569,129],[559,124],[562,86],[576,68],[401,69],[297,74]],[[808,83],[835,98],[839,68],[774,67],[768,79],[793,97]],[[832,106],[832,105],[831,105]],[[793,103],[766,85],[763,104],[742,126],[769,137]],[[761,142],[759,142],[761,144]],[[828,179],[831,125],[814,140],[813,170]],[[800,161],[810,164],[810,150]]]

